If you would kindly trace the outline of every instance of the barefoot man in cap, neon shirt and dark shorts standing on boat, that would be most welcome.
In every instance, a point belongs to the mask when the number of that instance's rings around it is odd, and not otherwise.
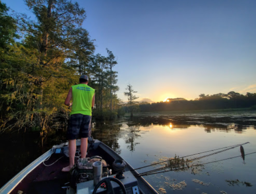
[[[65,105],[71,106],[67,137],[69,142],[69,166],[62,169],[69,172],[74,165],[77,138],[81,138],[81,158],[86,157],[87,139],[91,134],[91,112],[95,102],[95,90],[88,86],[88,77],[82,75],[80,84],[71,86]],[[71,99],[73,98],[73,103]]]

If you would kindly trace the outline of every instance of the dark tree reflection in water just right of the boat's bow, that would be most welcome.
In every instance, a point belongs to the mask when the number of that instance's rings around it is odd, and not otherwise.
[[[116,124],[115,122],[96,122],[92,127],[92,136],[94,139],[102,141],[117,154],[121,154],[118,139],[120,137],[122,124]]]

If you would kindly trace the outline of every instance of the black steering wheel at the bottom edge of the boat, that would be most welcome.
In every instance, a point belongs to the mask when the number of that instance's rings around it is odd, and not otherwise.
[[[125,186],[124,184],[119,180],[119,179],[116,179],[116,178],[113,178],[113,177],[107,177],[107,178],[104,178],[102,179],[94,188],[92,194],[95,194],[97,189],[101,186],[102,183],[106,183],[106,188],[107,188],[107,194],[113,194],[114,193],[114,189],[112,187],[112,184],[110,181],[113,181],[113,182],[116,182],[117,184],[119,184],[119,186],[121,187],[122,191],[124,194],[127,194],[126,190],[125,190]]]

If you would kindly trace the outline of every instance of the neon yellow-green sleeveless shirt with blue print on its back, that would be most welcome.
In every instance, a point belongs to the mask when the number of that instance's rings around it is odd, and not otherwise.
[[[72,87],[72,111],[70,114],[91,115],[92,98],[95,90],[86,84]]]

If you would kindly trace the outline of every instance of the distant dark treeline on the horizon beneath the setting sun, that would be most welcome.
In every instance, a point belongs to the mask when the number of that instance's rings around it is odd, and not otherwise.
[[[180,110],[210,110],[251,108],[256,109],[256,93],[247,92],[246,95],[230,91],[227,94],[218,93],[213,95],[200,94],[198,99],[186,100],[183,98],[167,99],[166,102],[141,103],[141,112],[152,111],[180,111]]]

